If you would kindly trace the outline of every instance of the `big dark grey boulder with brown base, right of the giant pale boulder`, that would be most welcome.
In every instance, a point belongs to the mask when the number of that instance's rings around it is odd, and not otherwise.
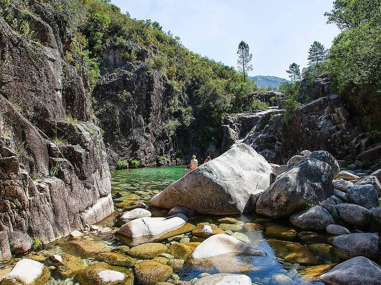
[[[287,218],[330,197],[332,180],[332,169],[326,162],[304,160],[279,176],[261,195],[256,211],[274,219]]]

